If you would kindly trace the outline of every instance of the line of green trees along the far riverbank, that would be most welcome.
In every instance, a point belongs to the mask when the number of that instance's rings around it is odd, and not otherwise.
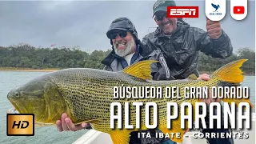
[[[74,67],[87,67],[102,69],[101,61],[110,54],[111,50],[94,50],[87,53],[74,47],[34,47],[28,44],[18,46],[0,46],[0,67],[2,69],[65,69]],[[255,74],[255,52],[249,48],[240,48],[229,58],[211,58],[199,53],[198,70],[213,72],[226,63],[238,59],[248,59],[242,66],[246,74]]]

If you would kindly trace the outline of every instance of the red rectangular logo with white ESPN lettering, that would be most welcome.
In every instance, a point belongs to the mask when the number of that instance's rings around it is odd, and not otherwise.
[[[198,18],[198,6],[167,6],[167,18]]]

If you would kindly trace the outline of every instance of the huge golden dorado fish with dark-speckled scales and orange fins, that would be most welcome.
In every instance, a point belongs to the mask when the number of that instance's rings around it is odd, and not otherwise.
[[[186,129],[181,129],[181,118],[172,121],[172,128],[167,129],[166,103],[177,102],[178,106],[182,102],[200,102],[198,98],[184,98],[183,90],[185,86],[220,86],[222,83],[239,85],[243,81],[242,70],[239,69],[246,59],[230,62],[222,66],[210,75],[209,81],[203,80],[172,80],[153,81],[150,74],[152,60],[135,63],[119,72],[106,70],[95,70],[87,68],[72,68],[58,70],[50,74],[34,78],[22,86],[11,90],[7,98],[14,108],[21,114],[34,114],[34,120],[38,123],[53,124],[66,112],[68,117],[79,124],[89,122],[94,130],[110,134],[114,144],[128,143],[130,132],[137,131],[124,129],[125,118],[122,114],[122,129],[110,129],[110,104],[120,102],[122,109],[125,102],[155,102],[158,109],[158,129],[166,133],[180,133],[181,138],[170,138],[174,142],[182,142],[183,133]],[[182,98],[114,98],[114,86],[178,86]],[[249,102],[249,99],[222,99],[224,102]],[[251,103],[250,103],[251,105]],[[124,111],[124,110],[122,110]],[[140,130],[146,130],[145,126],[145,106],[141,107]],[[179,110],[178,113],[181,111]],[[180,114],[179,114],[180,115]],[[193,110],[194,115],[194,110]],[[150,115],[153,118],[153,115]],[[136,109],[130,106],[130,125],[136,125]],[[115,123],[117,126],[117,122]],[[186,126],[187,127],[187,126]]]

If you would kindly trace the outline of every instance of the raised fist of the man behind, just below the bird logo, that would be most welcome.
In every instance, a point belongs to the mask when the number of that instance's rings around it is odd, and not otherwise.
[[[218,39],[222,35],[222,27],[219,21],[211,21],[206,18],[206,30],[210,38]]]

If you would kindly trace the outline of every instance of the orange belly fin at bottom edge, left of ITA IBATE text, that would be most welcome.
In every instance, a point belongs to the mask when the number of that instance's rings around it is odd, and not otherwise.
[[[127,130],[113,130],[110,133],[113,144],[129,143],[130,132]]]

